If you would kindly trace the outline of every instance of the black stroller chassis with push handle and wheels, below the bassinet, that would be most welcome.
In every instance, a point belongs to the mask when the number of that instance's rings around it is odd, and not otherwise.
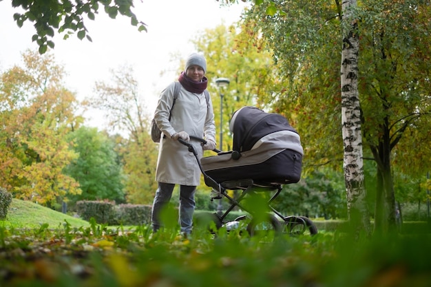
[[[288,233],[289,235],[315,235],[317,234],[317,228],[313,222],[305,216],[295,216],[295,215],[289,215],[284,216],[282,213],[277,211],[273,206],[271,206],[271,202],[277,198],[278,195],[280,195],[283,184],[277,183],[277,182],[255,182],[253,179],[240,179],[240,180],[229,180],[224,182],[216,182],[211,176],[209,176],[203,169],[202,164],[198,158],[198,153],[196,149],[191,145],[189,142],[185,142],[182,139],[178,139],[182,145],[185,145],[188,147],[189,151],[193,153],[195,156],[200,171],[202,172],[202,175],[204,176],[204,182],[208,187],[211,187],[213,191],[211,192],[211,201],[215,199],[222,199],[227,198],[229,203],[231,204],[229,208],[224,211],[221,215],[218,213],[213,213],[211,220],[215,223],[215,227],[221,228],[222,226],[226,226],[228,231],[229,227],[234,226],[234,228],[239,224],[240,221],[246,219],[246,215],[242,215],[240,217],[235,218],[233,222],[227,222],[225,219],[227,215],[233,209],[235,206],[238,206],[243,211],[246,211],[251,215],[251,221],[246,227],[246,230],[248,233],[253,236],[262,231],[267,231],[268,228],[271,228],[271,230],[275,231],[275,233]],[[191,140],[199,140],[202,143],[206,143],[206,140],[202,138],[196,138],[191,136]],[[214,149],[213,151],[217,153],[222,153],[218,149]],[[231,153],[225,152],[225,153]],[[286,184],[286,183],[284,183]],[[288,184],[288,183],[287,183]],[[237,199],[231,197],[227,190],[235,191],[235,190],[241,190],[242,193],[238,196]],[[262,218],[259,220],[256,220],[253,215],[256,215],[255,212],[251,211],[250,209],[246,208],[244,204],[242,204],[242,200],[246,198],[247,195],[253,195],[255,193],[260,192],[274,192],[273,195],[271,195],[271,198],[266,202],[267,206],[269,208],[269,211],[272,211],[273,214],[267,213],[264,217],[264,221],[262,221]],[[269,224],[268,224],[269,223]],[[262,226],[263,224],[263,226]]]

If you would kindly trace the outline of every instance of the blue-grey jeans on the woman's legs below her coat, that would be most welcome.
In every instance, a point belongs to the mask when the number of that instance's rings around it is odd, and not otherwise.
[[[160,222],[159,219],[160,211],[169,203],[169,200],[171,200],[174,187],[175,184],[163,182],[158,183],[158,189],[156,191],[153,208],[151,210],[153,231],[157,231],[162,227],[162,222]],[[180,185],[180,213],[178,223],[181,226],[182,233],[191,233],[193,212],[195,211],[195,191],[196,187]]]

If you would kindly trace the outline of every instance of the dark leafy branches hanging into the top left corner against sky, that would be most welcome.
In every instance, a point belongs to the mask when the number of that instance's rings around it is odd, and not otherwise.
[[[3,0],[0,0],[3,1]],[[53,0],[12,0],[12,7],[21,8],[14,13],[14,20],[21,28],[25,21],[34,23],[36,33],[32,36],[32,41],[39,45],[39,53],[46,52],[48,47],[54,48],[55,31],[65,33],[64,39],[70,34],[77,32],[78,39],[87,38],[92,41],[84,25],[84,18],[96,19],[96,14],[103,6],[103,10],[115,19],[119,14],[130,18],[130,23],[138,27],[139,31],[147,30],[145,23],[138,21],[132,12],[133,1],[104,1],[104,0],[85,0],[85,1],[53,1]]]

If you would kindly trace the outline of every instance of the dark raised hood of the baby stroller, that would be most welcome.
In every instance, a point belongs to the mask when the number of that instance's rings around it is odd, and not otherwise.
[[[242,107],[235,111],[229,127],[233,133],[232,149],[240,152],[251,150],[258,140],[277,131],[297,134],[284,116],[266,113],[257,107]]]

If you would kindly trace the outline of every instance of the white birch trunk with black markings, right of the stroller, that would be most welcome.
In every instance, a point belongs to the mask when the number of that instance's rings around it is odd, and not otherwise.
[[[343,49],[341,52],[341,125],[344,142],[344,179],[348,216],[355,234],[370,234],[370,219],[364,187],[364,158],[361,136],[361,110],[359,105],[358,55],[359,36],[357,19],[352,10],[356,0],[344,0]]]

